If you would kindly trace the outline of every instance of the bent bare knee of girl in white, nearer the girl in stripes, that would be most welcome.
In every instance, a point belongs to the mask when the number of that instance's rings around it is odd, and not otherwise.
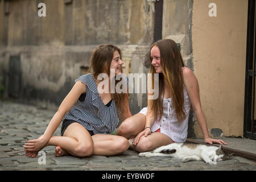
[[[146,122],[146,116],[142,113],[133,115],[130,118],[125,119],[118,127],[117,135],[123,136],[127,139],[136,137],[144,127]]]

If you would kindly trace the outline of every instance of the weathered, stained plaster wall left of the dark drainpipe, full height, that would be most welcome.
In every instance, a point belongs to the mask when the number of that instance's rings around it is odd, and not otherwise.
[[[46,17],[38,3],[46,3]],[[89,67],[92,50],[112,43],[123,51],[125,73],[147,73],[154,32],[151,3],[136,0],[10,1],[9,14],[0,12],[0,73],[9,96],[10,57],[20,57],[19,100],[55,108],[74,80]],[[1,10],[4,1],[0,2]],[[131,94],[133,114],[147,105],[146,94]]]

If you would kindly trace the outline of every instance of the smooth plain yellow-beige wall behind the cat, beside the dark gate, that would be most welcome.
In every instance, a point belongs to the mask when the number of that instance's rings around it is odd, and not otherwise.
[[[208,15],[211,2],[217,5],[216,17]],[[193,64],[209,134],[218,128],[224,136],[243,136],[247,3],[193,1]],[[195,133],[202,137],[197,122]]]

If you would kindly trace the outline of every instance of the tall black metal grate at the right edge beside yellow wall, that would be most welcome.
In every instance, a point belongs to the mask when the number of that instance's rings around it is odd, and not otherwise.
[[[243,137],[256,139],[255,121],[255,0],[248,1],[247,48],[246,48],[246,75],[245,75],[245,110]]]

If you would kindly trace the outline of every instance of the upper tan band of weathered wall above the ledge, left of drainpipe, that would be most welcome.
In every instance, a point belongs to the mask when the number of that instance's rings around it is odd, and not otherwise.
[[[46,17],[38,16],[39,2],[46,4]],[[16,0],[10,14],[1,16],[9,18],[10,46],[148,44],[154,18],[150,3],[135,0]]]

